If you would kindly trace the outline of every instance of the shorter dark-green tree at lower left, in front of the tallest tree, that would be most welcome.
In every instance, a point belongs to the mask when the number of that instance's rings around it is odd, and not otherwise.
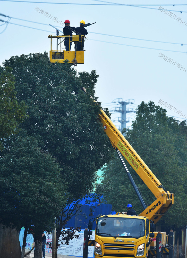
[[[29,230],[41,241],[41,232],[53,229],[54,218],[67,201],[67,187],[62,169],[54,158],[41,153],[35,137],[21,130],[6,141],[6,147],[0,159],[0,223],[17,230],[25,227],[23,257]]]

